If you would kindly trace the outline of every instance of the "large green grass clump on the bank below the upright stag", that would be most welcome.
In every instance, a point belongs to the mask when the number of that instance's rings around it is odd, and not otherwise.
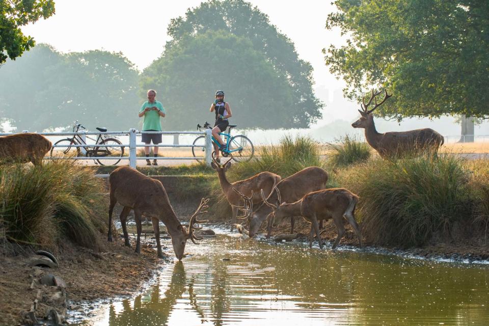
[[[448,239],[454,223],[470,219],[469,173],[454,156],[374,159],[352,168],[343,183],[360,196],[367,240],[412,247],[433,234]]]

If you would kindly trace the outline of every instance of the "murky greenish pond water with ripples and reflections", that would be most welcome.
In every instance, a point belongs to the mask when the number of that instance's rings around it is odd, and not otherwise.
[[[82,324],[489,324],[484,266],[228,236],[188,252],[192,256],[167,266],[147,293]]]

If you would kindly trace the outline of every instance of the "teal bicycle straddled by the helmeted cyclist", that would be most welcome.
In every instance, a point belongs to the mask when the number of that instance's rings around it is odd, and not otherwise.
[[[253,158],[255,154],[255,148],[250,139],[242,134],[231,136],[231,129],[236,127],[235,124],[230,124],[228,133],[220,132],[223,141],[226,144],[225,149],[221,151],[223,157],[232,157],[236,162],[247,162]],[[204,129],[212,129],[210,124],[206,121],[204,126],[197,124],[197,129],[202,131]],[[218,141],[212,137],[212,143],[218,145]],[[192,147],[192,154],[194,157],[203,158],[205,154],[205,136],[199,136],[195,139]]]

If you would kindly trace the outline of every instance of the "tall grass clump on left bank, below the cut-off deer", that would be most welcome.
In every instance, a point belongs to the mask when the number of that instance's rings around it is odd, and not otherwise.
[[[70,239],[98,250],[98,233],[106,230],[104,193],[93,169],[73,161],[1,165],[0,229],[10,242],[56,249]]]

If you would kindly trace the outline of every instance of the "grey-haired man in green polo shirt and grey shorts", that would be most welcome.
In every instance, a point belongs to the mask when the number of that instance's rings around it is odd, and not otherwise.
[[[139,117],[144,116],[143,131],[161,131],[160,117],[165,118],[165,108],[161,102],[155,100],[156,91],[148,91],[148,100],[143,103],[139,111]],[[141,140],[146,144],[144,153],[149,157],[149,145],[151,141],[153,145],[161,143],[161,133],[143,133]],[[158,147],[154,147],[154,157],[158,156]],[[146,159],[146,165],[151,165],[149,159]],[[158,165],[156,159],[153,160],[153,165]]]

